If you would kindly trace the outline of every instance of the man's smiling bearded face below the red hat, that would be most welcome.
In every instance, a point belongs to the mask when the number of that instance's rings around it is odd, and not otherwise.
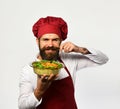
[[[57,60],[61,39],[57,34],[44,34],[37,39],[40,56],[45,60]]]

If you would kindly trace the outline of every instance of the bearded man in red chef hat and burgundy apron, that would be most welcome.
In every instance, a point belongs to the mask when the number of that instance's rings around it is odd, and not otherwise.
[[[39,47],[37,60],[63,62],[58,75],[39,76],[30,65],[20,75],[19,109],[77,109],[74,80],[78,70],[105,64],[108,58],[100,51],[79,47],[67,38],[67,23],[59,17],[40,18],[33,25]]]

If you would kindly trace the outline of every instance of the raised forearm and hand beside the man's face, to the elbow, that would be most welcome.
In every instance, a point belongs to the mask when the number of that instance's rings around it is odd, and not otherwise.
[[[66,42],[61,44],[60,50],[63,50],[66,53],[70,52],[76,52],[80,53],[84,57],[87,57],[90,59],[90,66],[92,64],[105,64],[108,61],[108,57],[103,54],[101,51],[95,50],[95,49],[87,49],[85,47],[79,47],[71,42]],[[88,62],[89,63],[89,62]],[[88,65],[88,66],[89,66]]]

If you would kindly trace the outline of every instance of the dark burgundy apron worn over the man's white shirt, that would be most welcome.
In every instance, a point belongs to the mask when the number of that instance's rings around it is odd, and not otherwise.
[[[65,70],[69,76],[53,81],[36,109],[77,109],[73,81],[66,66]]]

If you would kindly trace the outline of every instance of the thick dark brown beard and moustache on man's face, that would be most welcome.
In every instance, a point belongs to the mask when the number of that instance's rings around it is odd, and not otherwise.
[[[42,57],[42,59],[44,60],[58,60],[59,57],[59,47],[43,47],[40,48],[40,56]],[[51,52],[46,52],[46,51],[51,50]]]

